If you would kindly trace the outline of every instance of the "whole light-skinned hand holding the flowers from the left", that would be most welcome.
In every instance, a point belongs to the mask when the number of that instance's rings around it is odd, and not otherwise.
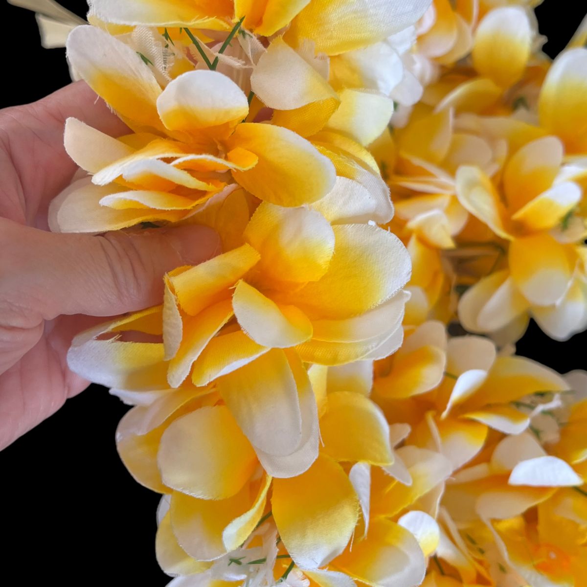
[[[166,271],[220,252],[205,227],[48,232],[49,202],[76,171],[63,148],[69,116],[128,131],[84,82],[0,110],[0,449],[85,389],[66,353],[77,332],[104,321],[92,317],[161,303]]]

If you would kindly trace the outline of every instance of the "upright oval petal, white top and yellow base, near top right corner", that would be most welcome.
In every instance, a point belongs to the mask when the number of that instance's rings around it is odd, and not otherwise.
[[[477,26],[473,65],[498,86],[510,87],[524,74],[532,49],[532,27],[521,6],[488,12]]]

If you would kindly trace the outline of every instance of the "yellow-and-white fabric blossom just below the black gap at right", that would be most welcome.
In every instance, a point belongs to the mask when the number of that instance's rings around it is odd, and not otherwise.
[[[458,469],[483,449],[490,430],[520,434],[532,417],[558,405],[556,397],[531,403],[528,396],[568,389],[561,376],[532,360],[497,356],[488,339],[447,342],[443,326],[427,322],[382,362],[374,397],[389,419],[413,427],[411,440],[438,450]]]

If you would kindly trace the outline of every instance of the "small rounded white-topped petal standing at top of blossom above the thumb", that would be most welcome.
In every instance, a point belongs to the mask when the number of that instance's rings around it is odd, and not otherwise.
[[[157,112],[167,129],[189,133],[234,126],[247,116],[249,105],[230,77],[201,69],[171,80],[157,99]]]

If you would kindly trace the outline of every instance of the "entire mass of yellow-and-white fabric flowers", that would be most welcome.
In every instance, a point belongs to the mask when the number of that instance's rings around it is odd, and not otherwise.
[[[52,230],[222,239],[69,353],[134,405],[170,585],[585,581],[587,374],[514,343],[587,326],[587,33],[551,63],[531,4],[93,0],[70,33],[131,134],[68,120]]]

